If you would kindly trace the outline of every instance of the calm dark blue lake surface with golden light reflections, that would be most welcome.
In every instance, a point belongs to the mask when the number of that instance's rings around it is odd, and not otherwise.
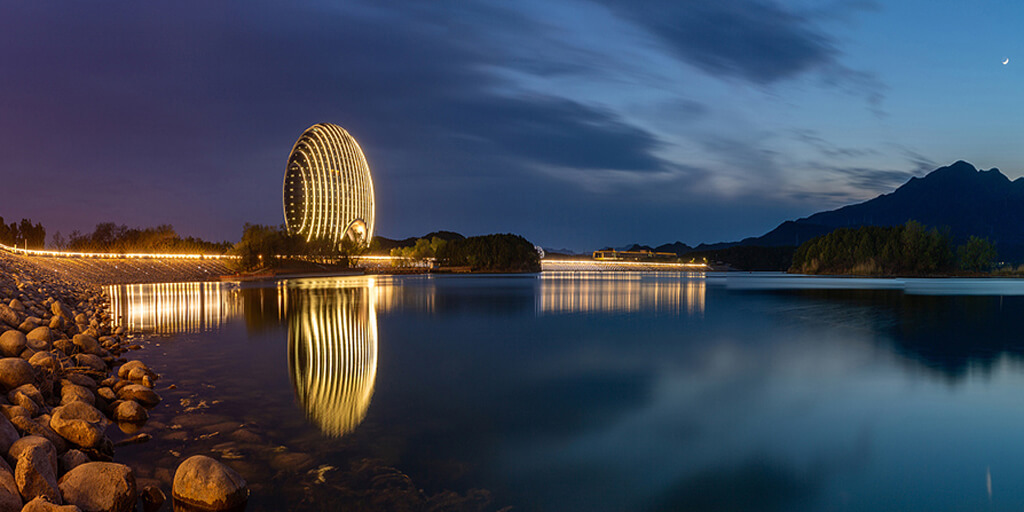
[[[1024,507],[1024,281],[544,273],[113,295],[165,397],[154,440],[118,458],[165,490],[181,458],[213,453],[253,484],[249,510],[330,510],[358,492],[359,461],[426,495],[486,489],[494,509]]]

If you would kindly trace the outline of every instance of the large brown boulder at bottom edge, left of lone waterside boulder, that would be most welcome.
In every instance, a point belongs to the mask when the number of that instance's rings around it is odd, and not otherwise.
[[[60,492],[83,512],[131,512],[138,500],[131,468],[113,462],[77,466],[60,478]]]

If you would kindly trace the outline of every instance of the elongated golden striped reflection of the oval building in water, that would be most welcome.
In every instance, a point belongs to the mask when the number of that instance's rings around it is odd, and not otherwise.
[[[288,310],[288,362],[306,416],[344,435],[367,416],[377,379],[373,280],[299,282],[281,290]]]

